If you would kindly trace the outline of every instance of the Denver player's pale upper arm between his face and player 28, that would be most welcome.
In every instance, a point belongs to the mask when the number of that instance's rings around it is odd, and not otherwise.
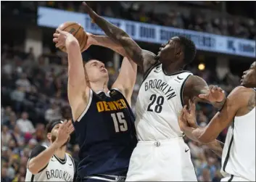
[[[137,65],[127,57],[123,58],[120,68],[120,73],[112,85],[112,88],[118,88],[125,96],[127,102],[131,105],[131,95],[133,94],[133,87],[136,82]]]

